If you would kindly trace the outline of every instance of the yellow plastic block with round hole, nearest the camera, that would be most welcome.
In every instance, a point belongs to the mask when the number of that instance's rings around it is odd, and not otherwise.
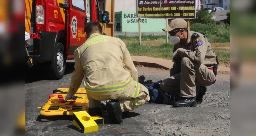
[[[98,131],[99,126],[86,111],[74,112],[73,119],[84,133]]]

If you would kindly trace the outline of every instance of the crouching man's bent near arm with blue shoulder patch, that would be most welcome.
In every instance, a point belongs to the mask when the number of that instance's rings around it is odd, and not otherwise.
[[[201,41],[200,41],[200,39],[201,39]],[[197,42],[197,40],[198,40],[198,42]],[[192,61],[202,63],[204,61],[206,51],[207,51],[207,44],[206,44],[205,38],[202,36],[198,37],[194,41],[194,45],[195,45],[194,51],[180,48],[177,54],[179,54],[179,56],[181,58],[188,57]]]

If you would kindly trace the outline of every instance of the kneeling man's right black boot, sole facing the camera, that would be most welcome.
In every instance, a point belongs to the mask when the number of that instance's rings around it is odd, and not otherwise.
[[[107,112],[109,113],[109,121],[112,124],[123,123],[122,110],[118,100],[111,100],[106,104]]]

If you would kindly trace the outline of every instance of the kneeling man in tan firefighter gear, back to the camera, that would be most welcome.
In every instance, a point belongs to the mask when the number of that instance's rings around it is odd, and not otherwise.
[[[85,26],[87,40],[74,52],[73,72],[67,99],[82,80],[89,100],[89,114],[102,115],[100,101],[106,104],[110,121],[122,123],[122,112],[131,111],[150,100],[146,87],[138,83],[138,72],[125,43],[116,37],[102,35],[97,22]]]

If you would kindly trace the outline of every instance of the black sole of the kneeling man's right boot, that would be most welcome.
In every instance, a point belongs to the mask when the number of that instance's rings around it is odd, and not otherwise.
[[[119,114],[118,109],[117,109],[117,107],[115,105],[107,103],[106,107],[107,107],[107,112],[110,115],[110,118],[112,118],[111,122],[113,122],[115,124],[123,123],[122,115]],[[119,118],[119,117],[121,117],[121,118]]]

